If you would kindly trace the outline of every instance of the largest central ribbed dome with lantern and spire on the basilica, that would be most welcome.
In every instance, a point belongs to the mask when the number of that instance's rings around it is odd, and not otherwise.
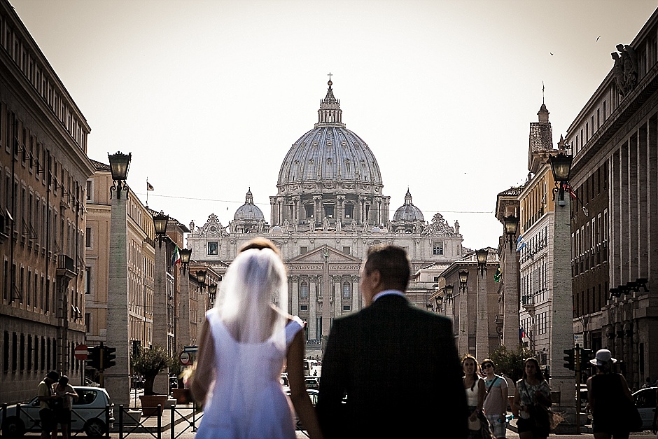
[[[318,123],[302,135],[286,154],[279,172],[279,192],[302,187],[318,188],[318,183],[367,184],[378,188],[383,183],[379,165],[365,141],[342,123],[342,110],[328,82],[327,95],[320,102]]]

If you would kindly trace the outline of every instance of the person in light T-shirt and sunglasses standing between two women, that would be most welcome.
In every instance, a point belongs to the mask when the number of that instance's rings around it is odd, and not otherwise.
[[[507,431],[507,381],[496,375],[496,364],[486,358],[482,361],[482,371],[485,373],[484,414],[489,421],[493,437],[504,439]]]

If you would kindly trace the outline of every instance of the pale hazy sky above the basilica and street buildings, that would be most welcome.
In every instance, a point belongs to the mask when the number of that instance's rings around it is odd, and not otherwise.
[[[542,101],[557,144],[656,0],[9,0],[127,183],[183,224],[228,225],[249,188],[269,221],[281,162],[331,73],[343,122],[391,197],[498,245]],[[155,190],[146,191],[146,181]]]

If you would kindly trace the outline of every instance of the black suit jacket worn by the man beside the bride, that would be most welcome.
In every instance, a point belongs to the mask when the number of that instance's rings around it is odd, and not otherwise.
[[[437,437],[465,438],[462,376],[451,321],[405,297],[384,295],[335,319],[322,362],[318,418],[327,438],[396,431],[409,437],[428,429]]]

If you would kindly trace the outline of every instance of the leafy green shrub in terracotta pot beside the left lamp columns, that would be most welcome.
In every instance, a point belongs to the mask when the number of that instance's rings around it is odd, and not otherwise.
[[[132,370],[144,376],[144,396],[141,396],[142,412],[148,416],[155,412],[155,409],[148,410],[148,407],[158,407],[160,411],[165,409],[165,403],[169,398],[168,395],[157,395],[153,391],[153,382],[162,370],[174,364],[174,358],[169,355],[165,347],[158,344],[153,345],[151,349],[141,349],[138,354],[130,358]],[[144,410],[144,409],[147,410]]]

